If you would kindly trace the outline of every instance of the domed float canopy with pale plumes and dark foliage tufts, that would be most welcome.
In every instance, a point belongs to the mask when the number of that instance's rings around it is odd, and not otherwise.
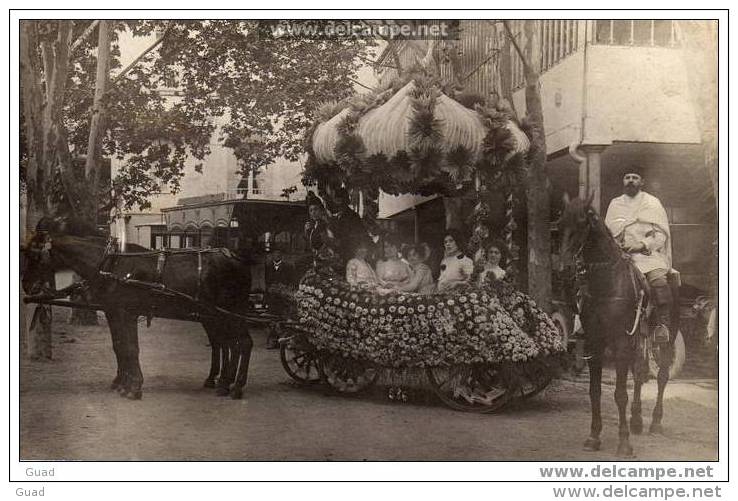
[[[493,181],[521,168],[529,146],[508,110],[465,106],[421,69],[385,90],[326,106],[308,136],[305,180],[450,194],[476,174]]]

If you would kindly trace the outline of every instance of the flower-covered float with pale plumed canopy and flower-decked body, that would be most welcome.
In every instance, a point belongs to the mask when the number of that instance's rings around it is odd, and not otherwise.
[[[326,105],[318,117],[303,182],[350,188],[362,195],[365,213],[376,214],[380,191],[437,195],[451,202],[449,211],[474,190],[524,179],[530,142],[509,110],[462,104],[423,68]],[[475,213],[486,213],[481,197]],[[472,223],[477,244],[489,233],[483,220]],[[356,392],[380,370],[412,368],[450,407],[492,412],[547,386],[551,361],[564,350],[551,319],[504,282],[429,295],[384,292],[308,272],[291,295],[293,335],[281,350],[287,373]]]

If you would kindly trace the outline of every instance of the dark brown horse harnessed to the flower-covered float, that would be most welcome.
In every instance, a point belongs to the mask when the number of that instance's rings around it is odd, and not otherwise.
[[[24,290],[38,292],[54,270],[72,269],[86,285],[91,303],[101,305],[118,364],[111,387],[131,399],[142,396],[138,317],[202,323],[211,345],[206,387],[241,398],[253,341],[237,315],[248,306],[251,287],[246,263],[224,249],[151,252],[128,245],[126,254],[106,252],[107,240],[80,225],[43,220],[24,252]],[[165,284],[166,295],[135,283]],[[53,282],[52,282],[53,283]],[[196,301],[192,301],[193,298]]]

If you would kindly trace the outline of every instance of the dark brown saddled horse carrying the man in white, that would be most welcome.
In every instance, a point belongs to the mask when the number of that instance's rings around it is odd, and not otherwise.
[[[564,213],[560,221],[561,266],[573,268],[576,261],[584,265],[584,300],[580,318],[585,331],[586,351],[589,355],[589,396],[592,406],[590,435],[584,443],[586,450],[599,450],[602,418],[600,397],[602,361],[605,348],[615,357],[615,402],[619,416],[620,457],[633,456],[630,432],[643,430],[641,417],[641,386],[645,380],[648,356],[646,351],[648,326],[641,325],[638,305],[641,294],[646,294],[646,284],[630,257],[625,254],[602,218],[589,200],[565,199]],[[664,389],[669,379],[673,340],[676,328],[671,328],[671,342],[660,345],[657,353],[659,365],[658,396],[653,410],[650,431],[661,432]],[[634,379],[630,429],[626,416],[628,406],[628,371]]]

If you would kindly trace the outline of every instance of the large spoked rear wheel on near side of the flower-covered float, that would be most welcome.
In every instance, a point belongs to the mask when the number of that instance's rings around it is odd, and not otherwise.
[[[460,411],[495,412],[513,395],[503,371],[493,365],[428,367],[426,374],[438,398]]]

